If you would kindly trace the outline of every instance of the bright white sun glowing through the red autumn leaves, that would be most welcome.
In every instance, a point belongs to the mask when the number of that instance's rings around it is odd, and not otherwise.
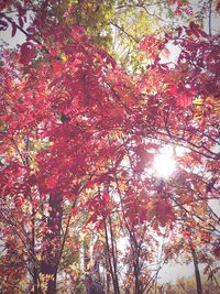
[[[176,161],[170,146],[165,146],[155,155],[153,167],[158,177],[168,178],[176,170]]]

